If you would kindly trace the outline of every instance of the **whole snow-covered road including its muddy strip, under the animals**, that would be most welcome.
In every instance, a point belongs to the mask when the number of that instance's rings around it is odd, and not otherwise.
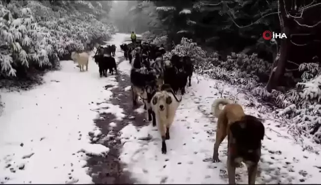
[[[236,97],[246,113],[264,120],[257,183],[319,183],[320,146],[303,150],[249,94],[204,76],[192,77],[170,128],[168,152],[161,154],[157,127],[143,121],[143,106],[132,108],[131,65],[119,48],[128,38],[116,34],[109,42],[117,46],[117,75],[100,78],[93,61],[88,72],[63,61],[44,85],[1,91],[0,183],[226,184],[226,140],[219,148],[222,162],[210,159],[217,121],[210,109],[221,95]],[[236,172],[237,183],[247,184],[246,168]]]

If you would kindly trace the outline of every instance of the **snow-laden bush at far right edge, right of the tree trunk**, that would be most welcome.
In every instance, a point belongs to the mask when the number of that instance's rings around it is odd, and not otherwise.
[[[321,67],[318,63],[302,63],[304,71],[296,88],[279,94],[276,102],[284,109],[277,110],[280,117],[290,118],[299,134],[313,134],[321,143]]]

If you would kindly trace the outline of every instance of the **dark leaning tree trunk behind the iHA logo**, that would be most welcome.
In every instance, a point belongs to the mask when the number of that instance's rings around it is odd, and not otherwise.
[[[268,79],[268,84],[266,86],[268,92],[271,92],[272,89],[276,89],[281,78],[284,75],[285,66],[286,66],[286,62],[289,54],[289,48],[291,45],[290,28],[289,28],[290,19],[286,16],[286,9],[285,9],[286,6],[284,4],[284,0],[279,0],[278,2],[279,2],[278,9],[280,12],[279,18],[280,18],[281,33],[285,33],[285,35],[288,38],[282,39],[281,41],[280,52],[279,52],[280,57],[276,59],[273,63],[270,77]]]

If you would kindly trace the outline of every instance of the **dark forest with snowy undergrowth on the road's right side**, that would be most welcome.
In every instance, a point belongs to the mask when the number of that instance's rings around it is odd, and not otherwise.
[[[298,141],[321,142],[320,0],[137,1],[131,11],[149,17],[143,37],[167,57],[191,56],[199,73],[270,105]],[[287,38],[264,40],[265,30]]]

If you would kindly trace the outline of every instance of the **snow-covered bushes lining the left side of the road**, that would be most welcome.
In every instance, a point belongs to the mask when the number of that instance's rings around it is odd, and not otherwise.
[[[71,51],[107,40],[112,31],[87,12],[69,12],[33,0],[11,1],[6,6],[1,2],[0,75],[16,76],[21,67],[55,66]]]

